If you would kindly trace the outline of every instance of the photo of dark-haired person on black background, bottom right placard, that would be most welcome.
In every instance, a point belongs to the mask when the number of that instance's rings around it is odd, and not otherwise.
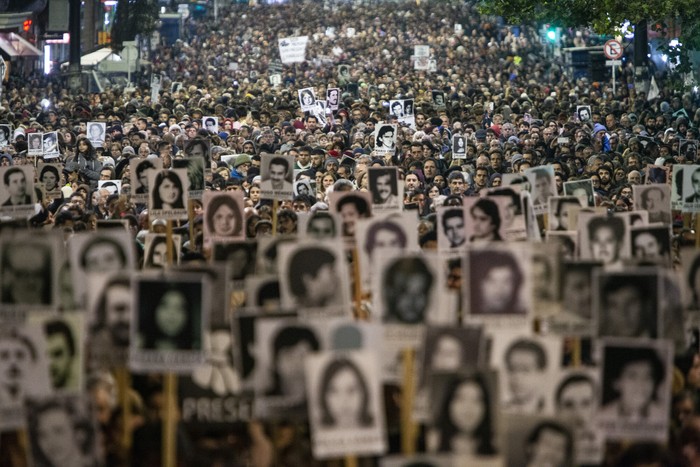
[[[665,441],[672,373],[669,341],[606,339],[599,429],[607,439]]]

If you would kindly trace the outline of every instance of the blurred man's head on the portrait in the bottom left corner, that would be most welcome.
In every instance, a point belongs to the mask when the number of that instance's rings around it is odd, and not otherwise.
[[[37,465],[80,465],[95,443],[86,421],[76,420],[80,410],[74,399],[47,399],[29,404],[28,428],[32,456]]]

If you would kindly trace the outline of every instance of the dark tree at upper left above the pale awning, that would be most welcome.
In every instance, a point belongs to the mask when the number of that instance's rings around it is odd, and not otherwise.
[[[119,0],[112,25],[112,49],[120,51],[136,35],[150,36],[158,24],[158,0]]]

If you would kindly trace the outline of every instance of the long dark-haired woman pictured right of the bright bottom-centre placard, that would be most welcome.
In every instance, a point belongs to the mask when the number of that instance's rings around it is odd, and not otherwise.
[[[436,414],[438,451],[462,455],[496,454],[491,397],[481,374],[451,375]]]

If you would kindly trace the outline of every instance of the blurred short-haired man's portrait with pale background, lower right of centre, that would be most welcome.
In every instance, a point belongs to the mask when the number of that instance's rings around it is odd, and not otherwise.
[[[552,336],[527,336],[513,329],[494,332],[491,365],[499,370],[502,410],[551,410],[548,388],[556,379],[561,347],[561,339]]]

